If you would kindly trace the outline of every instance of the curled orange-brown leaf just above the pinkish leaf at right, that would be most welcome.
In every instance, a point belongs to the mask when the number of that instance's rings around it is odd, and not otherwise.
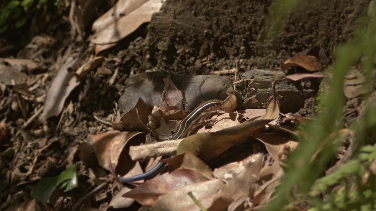
[[[308,71],[320,71],[323,66],[318,59],[314,56],[293,56],[290,59],[286,60],[286,62],[279,66],[278,69],[282,69],[283,71],[287,70],[288,68],[292,67],[302,67]]]

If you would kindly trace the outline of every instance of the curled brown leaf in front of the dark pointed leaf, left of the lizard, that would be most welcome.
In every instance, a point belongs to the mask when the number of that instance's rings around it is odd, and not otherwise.
[[[137,109],[132,109],[127,112],[123,117],[121,117],[120,122],[112,122],[112,128],[120,131],[151,132],[139,118]]]

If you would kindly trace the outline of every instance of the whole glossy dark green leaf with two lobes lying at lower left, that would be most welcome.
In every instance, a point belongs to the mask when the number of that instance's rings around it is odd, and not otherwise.
[[[78,187],[76,164],[73,164],[69,169],[61,172],[59,176],[46,177],[36,183],[33,190],[33,199],[38,198],[37,201],[40,203],[48,202],[52,192],[61,182],[63,182],[63,184],[60,189],[64,187],[65,191]]]

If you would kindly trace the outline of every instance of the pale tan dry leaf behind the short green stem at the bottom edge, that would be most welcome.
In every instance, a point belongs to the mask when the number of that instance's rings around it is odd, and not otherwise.
[[[223,187],[223,182],[219,179],[186,185],[168,194],[160,196],[158,201],[152,206],[153,211],[176,211],[176,210],[199,210],[193,202],[188,192],[204,206],[209,207],[215,194]]]

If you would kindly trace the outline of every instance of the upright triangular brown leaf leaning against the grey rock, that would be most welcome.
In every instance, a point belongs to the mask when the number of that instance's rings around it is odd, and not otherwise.
[[[180,99],[179,90],[177,90],[175,84],[171,81],[171,74],[168,74],[163,79],[165,87],[162,92],[162,101],[160,109],[165,114],[170,114],[172,110],[184,110],[182,100]]]

